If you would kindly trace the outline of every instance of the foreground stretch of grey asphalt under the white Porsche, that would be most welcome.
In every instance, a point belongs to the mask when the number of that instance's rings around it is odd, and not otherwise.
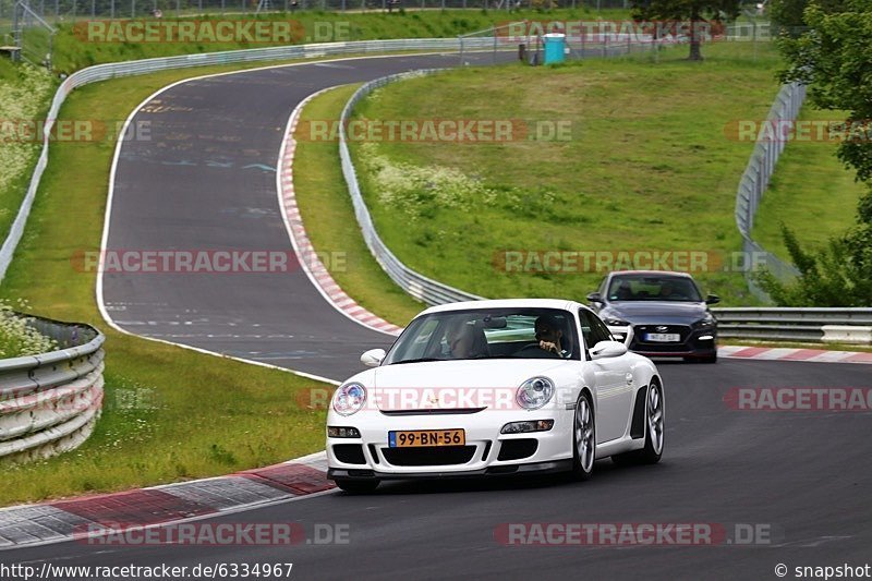
[[[0,561],[195,567],[292,562],[292,579],[777,579],[776,565],[861,566],[872,547],[869,413],[748,412],[736,386],[869,386],[865,365],[744,362],[661,365],[666,451],[654,467],[597,462],[593,479],[383,483],[205,522],[339,525],[347,543],[293,546],[87,546],[0,553]],[[507,545],[509,523],[697,523],[698,546]],[[738,530],[765,532],[752,536]],[[504,534],[500,534],[502,532]],[[524,537],[525,538],[525,537]],[[713,535],[713,541],[717,541]],[[731,543],[729,541],[732,541]],[[765,541],[758,544],[756,541]],[[189,569],[190,570],[190,569]]]

